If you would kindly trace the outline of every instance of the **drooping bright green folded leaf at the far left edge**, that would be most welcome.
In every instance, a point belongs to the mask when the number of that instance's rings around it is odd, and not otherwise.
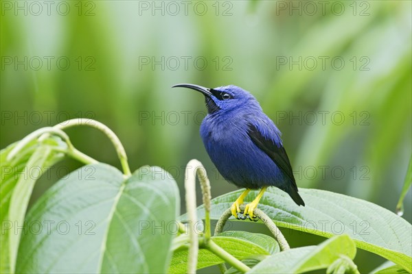
[[[0,272],[14,273],[17,249],[25,212],[36,181],[50,166],[62,160],[67,145],[60,138],[49,137],[29,142],[11,160],[8,153],[17,142],[0,151],[1,251]]]

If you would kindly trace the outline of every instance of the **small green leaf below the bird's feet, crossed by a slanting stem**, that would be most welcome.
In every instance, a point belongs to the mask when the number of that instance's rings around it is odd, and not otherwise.
[[[273,243],[274,239],[263,234],[254,234],[250,232],[223,232],[211,239],[222,249],[231,253],[238,260],[243,260],[255,255],[270,255],[279,249],[279,246]],[[255,242],[253,242],[253,240]],[[267,240],[268,242],[265,242]],[[207,266],[214,266],[224,262],[218,256],[207,249],[199,249],[197,269],[203,269]],[[187,268],[187,250],[178,250],[174,252],[170,264],[169,273],[186,273]]]

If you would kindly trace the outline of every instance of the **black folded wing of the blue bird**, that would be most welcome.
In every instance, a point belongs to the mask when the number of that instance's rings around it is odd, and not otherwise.
[[[282,141],[280,140],[277,132],[273,132],[273,134],[276,134],[277,140],[265,137],[267,134],[263,134],[258,127],[249,123],[248,135],[252,139],[253,143],[262,149],[262,151],[264,151],[264,153],[266,153],[273,160],[273,162],[275,162],[279,169],[281,169],[284,174],[289,177],[290,181],[292,181],[293,185],[297,188],[295,177],[293,176],[292,166],[290,166],[288,155],[282,146]]]

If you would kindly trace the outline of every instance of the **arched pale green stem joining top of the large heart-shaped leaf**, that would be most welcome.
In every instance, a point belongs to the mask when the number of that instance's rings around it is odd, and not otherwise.
[[[124,175],[126,175],[127,177],[130,177],[132,173],[130,173],[130,168],[128,166],[126,151],[124,150],[122,142],[120,142],[119,138],[116,136],[116,134],[111,129],[109,129],[106,125],[98,121],[95,121],[93,119],[84,119],[84,118],[71,119],[69,121],[65,121],[58,125],[55,125],[54,128],[55,129],[65,129],[67,127],[73,127],[75,125],[88,125],[90,127],[95,127],[97,129],[100,129],[100,131],[103,132],[104,134],[106,134],[106,136],[111,140],[111,142],[113,143],[116,149],[117,157],[119,157],[120,164],[122,164]]]

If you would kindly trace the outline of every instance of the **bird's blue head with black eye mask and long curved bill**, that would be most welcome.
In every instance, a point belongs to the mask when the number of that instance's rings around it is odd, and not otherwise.
[[[172,88],[191,88],[205,95],[207,112],[226,112],[241,109],[244,105],[259,105],[255,97],[238,86],[219,86],[218,88],[205,88],[194,84],[177,84]]]

